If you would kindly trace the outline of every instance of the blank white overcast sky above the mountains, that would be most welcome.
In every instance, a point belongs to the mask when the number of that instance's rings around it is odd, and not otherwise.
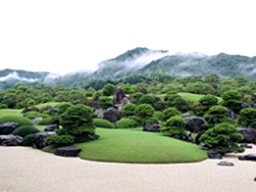
[[[253,0],[2,0],[0,69],[95,69],[128,49],[256,55]]]

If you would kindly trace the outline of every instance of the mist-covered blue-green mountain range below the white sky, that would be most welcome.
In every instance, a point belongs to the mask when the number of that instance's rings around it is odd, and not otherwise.
[[[136,48],[126,51],[113,59],[102,61],[95,72],[84,71],[60,76],[48,72],[28,72],[22,70],[0,70],[0,89],[7,89],[17,83],[24,84],[64,84],[70,87],[84,87],[92,80],[125,79],[131,75],[148,76],[165,73],[174,77],[216,73],[220,78],[235,78],[243,75],[248,80],[256,79],[256,56],[203,55],[201,53],[177,53],[170,55],[167,50]]]

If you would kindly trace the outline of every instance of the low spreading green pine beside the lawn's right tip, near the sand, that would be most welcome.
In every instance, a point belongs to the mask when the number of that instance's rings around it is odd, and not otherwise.
[[[241,153],[244,151],[244,148],[241,148],[237,142],[242,139],[243,137],[241,133],[236,131],[235,125],[224,122],[208,129],[200,137],[200,142],[212,145],[212,148],[216,149],[220,154]]]

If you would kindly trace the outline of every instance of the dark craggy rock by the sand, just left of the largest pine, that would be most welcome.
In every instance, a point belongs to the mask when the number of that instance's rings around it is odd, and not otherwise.
[[[52,131],[40,131],[32,134],[32,137],[31,137],[32,148],[41,149],[49,145],[49,142],[46,140],[47,137],[55,134],[56,133]]]

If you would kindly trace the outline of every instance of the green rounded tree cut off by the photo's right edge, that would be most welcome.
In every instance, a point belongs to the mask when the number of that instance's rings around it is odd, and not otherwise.
[[[239,113],[238,125],[256,128],[256,109],[243,108]]]

